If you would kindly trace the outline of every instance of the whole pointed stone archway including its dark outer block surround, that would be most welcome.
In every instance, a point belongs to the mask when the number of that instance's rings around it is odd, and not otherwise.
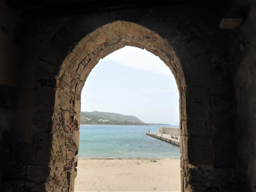
[[[138,16],[140,12],[133,14]],[[230,106],[217,104],[225,97],[222,90],[226,88],[223,71],[216,70],[222,68],[222,54],[208,48],[207,37],[175,15],[152,11],[144,24],[131,16],[122,16],[122,20],[110,16],[102,14],[93,20],[94,16],[89,15],[66,21],[40,53],[33,117],[40,131],[33,134],[28,178],[40,182],[46,191],[74,190],[82,87],[100,58],[129,45],[159,56],[176,78],[180,93],[182,191],[230,188],[232,156],[225,156],[225,152],[231,150],[233,140],[228,137],[226,143],[226,138],[221,137]],[[176,30],[172,30],[172,24]],[[220,147],[223,144],[226,147]],[[35,170],[43,174],[37,177]]]

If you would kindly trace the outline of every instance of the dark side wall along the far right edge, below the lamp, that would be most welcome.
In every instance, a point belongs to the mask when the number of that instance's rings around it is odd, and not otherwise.
[[[234,1],[230,13],[244,21],[230,31],[230,60],[234,71],[237,169],[240,191],[256,190],[256,4]]]

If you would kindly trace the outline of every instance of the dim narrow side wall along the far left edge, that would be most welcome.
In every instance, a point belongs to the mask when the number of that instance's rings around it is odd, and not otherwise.
[[[8,8],[0,1],[0,191],[4,191],[4,179],[19,178],[24,171],[22,163],[22,144],[13,136],[18,93],[17,74],[20,67],[19,38],[16,34],[20,11]],[[6,165],[6,162],[10,162]],[[10,166],[11,165],[11,166]],[[15,171],[14,175],[4,174]]]

